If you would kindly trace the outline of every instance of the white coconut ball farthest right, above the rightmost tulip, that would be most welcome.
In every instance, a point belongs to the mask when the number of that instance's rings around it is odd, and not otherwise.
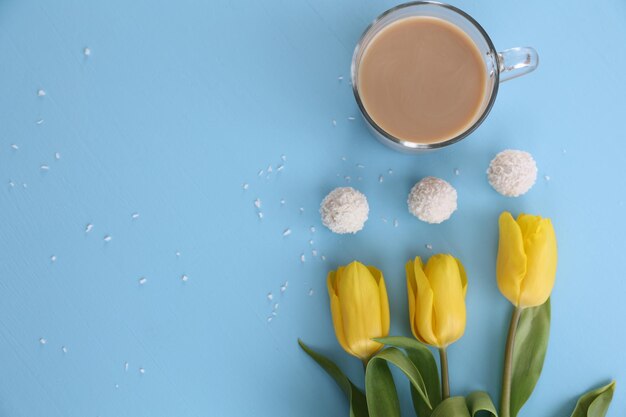
[[[487,170],[489,184],[502,195],[519,197],[537,180],[537,164],[525,151],[507,149],[496,155]]]

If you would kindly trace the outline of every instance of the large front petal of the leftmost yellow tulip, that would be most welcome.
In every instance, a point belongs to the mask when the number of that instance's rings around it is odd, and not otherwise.
[[[382,319],[378,284],[365,265],[352,262],[337,280],[341,317],[348,346],[361,359],[369,358],[382,345]]]

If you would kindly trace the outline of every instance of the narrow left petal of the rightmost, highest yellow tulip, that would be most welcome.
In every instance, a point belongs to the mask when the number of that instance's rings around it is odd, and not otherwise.
[[[499,219],[500,242],[496,262],[498,288],[515,306],[519,306],[522,281],[526,276],[526,252],[519,225],[509,212]]]

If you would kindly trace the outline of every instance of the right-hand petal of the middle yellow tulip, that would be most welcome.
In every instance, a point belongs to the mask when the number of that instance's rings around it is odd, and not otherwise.
[[[434,293],[434,333],[439,347],[446,347],[465,332],[466,312],[463,278],[451,255],[434,255],[426,264],[426,276]]]

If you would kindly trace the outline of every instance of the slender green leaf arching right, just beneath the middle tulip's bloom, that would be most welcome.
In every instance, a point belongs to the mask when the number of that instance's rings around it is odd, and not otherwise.
[[[415,339],[403,336],[385,337],[375,339],[377,342],[387,346],[394,346],[404,349],[409,360],[417,368],[426,385],[426,393],[428,401],[419,394],[419,392],[411,384],[411,398],[413,399],[413,408],[419,417],[429,417],[433,412],[433,408],[441,402],[441,385],[439,384],[439,371],[437,362],[432,351],[425,344]],[[430,405],[432,405],[432,407]]]

